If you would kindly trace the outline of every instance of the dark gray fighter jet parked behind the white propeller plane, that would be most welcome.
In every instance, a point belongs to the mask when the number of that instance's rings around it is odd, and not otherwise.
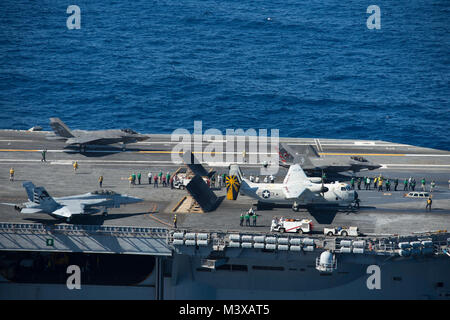
[[[342,158],[339,156],[320,157],[311,145],[299,146],[297,151],[285,143],[280,143],[280,164],[289,166],[300,164],[309,175],[338,173],[345,171],[359,172],[362,170],[375,170],[381,167],[378,163],[370,162],[363,157]]]

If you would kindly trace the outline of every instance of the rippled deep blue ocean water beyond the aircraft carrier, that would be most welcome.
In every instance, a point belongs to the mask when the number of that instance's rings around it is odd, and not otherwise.
[[[449,150],[449,13],[448,0],[3,0],[0,128],[202,120]]]

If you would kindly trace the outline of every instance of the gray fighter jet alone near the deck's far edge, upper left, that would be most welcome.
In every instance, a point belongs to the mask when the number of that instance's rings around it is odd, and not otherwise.
[[[63,139],[67,146],[80,147],[80,152],[86,150],[86,145],[108,145],[113,143],[127,143],[147,140],[149,137],[144,134],[135,132],[132,129],[112,129],[112,130],[74,130],[71,131],[64,122],[59,118],[50,118],[50,126],[52,127],[56,139]],[[49,137],[50,139],[53,137]]]

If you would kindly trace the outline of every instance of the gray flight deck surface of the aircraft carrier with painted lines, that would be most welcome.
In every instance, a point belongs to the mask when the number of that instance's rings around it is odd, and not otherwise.
[[[118,209],[110,209],[109,215],[100,213],[92,216],[76,217],[73,223],[140,226],[167,228],[172,226],[171,210],[186,195],[183,190],[170,190],[161,185],[158,189],[148,185],[147,174],[151,171],[164,174],[173,173],[182,164],[171,160],[172,149],[177,142],[171,141],[170,135],[150,135],[145,142],[122,146],[88,146],[85,153],[77,149],[64,149],[63,141],[45,138],[47,132],[0,131],[0,203],[22,203],[27,201],[23,181],[32,181],[36,186],[44,186],[50,196],[62,197],[98,189],[98,177],[104,177],[103,188],[122,194],[144,199],[144,202]],[[306,210],[293,212],[290,208],[274,208],[257,212],[257,227],[240,227],[239,216],[254,201],[246,196],[239,196],[237,201],[224,199],[219,208],[208,213],[180,213],[178,227],[193,231],[254,231],[269,232],[274,216],[312,218],[316,232],[324,226],[358,226],[365,234],[399,234],[414,232],[450,230],[450,152],[422,147],[389,143],[384,141],[361,141],[313,138],[280,138],[295,148],[299,144],[311,144],[317,152],[326,157],[338,155],[349,157],[361,155],[370,161],[383,165],[374,171],[363,171],[357,176],[399,178],[397,192],[378,192],[374,190],[357,190],[361,199],[361,208],[357,211],[320,210],[313,216]],[[205,147],[208,142],[204,143]],[[47,149],[47,162],[41,162],[41,150]],[[194,147],[192,147],[194,150]],[[194,150],[195,151],[195,150]],[[201,153],[198,153],[201,154]],[[242,162],[242,152],[235,152],[234,161]],[[248,154],[247,154],[248,157]],[[79,168],[76,173],[72,162],[77,160]],[[14,167],[15,181],[9,182],[9,169]],[[227,172],[223,161],[212,166],[219,173]],[[242,164],[246,176],[257,174],[257,165]],[[209,169],[209,167],[207,167]],[[132,173],[142,173],[141,185],[129,186],[128,177]],[[281,168],[276,181],[282,181],[286,169]],[[421,190],[420,180],[436,182],[433,192],[433,209],[425,211],[425,199],[408,199],[403,194],[403,179],[410,176],[416,179],[416,191]],[[261,179],[262,180],[262,179]],[[363,184],[362,184],[363,185]],[[373,185],[372,185],[373,187]],[[391,190],[394,189],[392,181]],[[225,196],[225,188],[214,190]],[[46,214],[19,214],[13,207],[0,204],[1,222],[37,222],[44,224],[65,223]]]

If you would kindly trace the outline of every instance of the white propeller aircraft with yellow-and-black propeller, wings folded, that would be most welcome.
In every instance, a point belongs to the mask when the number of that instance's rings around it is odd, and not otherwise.
[[[229,175],[235,175],[240,182],[239,192],[260,203],[292,204],[292,209],[315,206],[350,206],[357,195],[346,183],[324,184],[320,178],[309,178],[299,164],[289,167],[283,183],[254,183],[244,178],[239,166],[230,165]]]

